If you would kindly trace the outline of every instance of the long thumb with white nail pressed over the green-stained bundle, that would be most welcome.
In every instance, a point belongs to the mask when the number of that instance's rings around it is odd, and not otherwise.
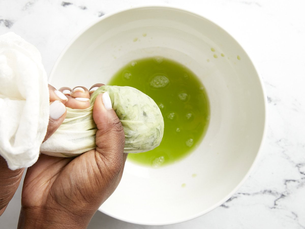
[[[93,120],[98,129],[95,134],[96,150],[106,159],[105,163],[121,164],[124,158],[125,134],[107,92],[96,97]]]

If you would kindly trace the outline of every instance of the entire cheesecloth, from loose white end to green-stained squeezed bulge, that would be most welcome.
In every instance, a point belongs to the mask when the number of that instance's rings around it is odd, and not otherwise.
[[[124,128],[124,152],[149,151],[162,140],[163,117],[149,96],[131,87],[102,86],[88,109],[67,108],[63,124],[41,145],[49,122],[47,74],[38,49],[12,32],[0,36],[0,82],[0,155],[10,169],[30,167],[40,150],[70,157],[94,149],[93,104],[105,91]]]

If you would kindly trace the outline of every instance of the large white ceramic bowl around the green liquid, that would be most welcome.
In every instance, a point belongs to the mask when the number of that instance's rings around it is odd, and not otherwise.
[[[127,160],[119,186],[99,210],[136,224],[174,224],[209,212],[242,185],[264,138],[266,96],[235,39],[202,16],[169,7],[103,16],[63,51],[49,82],[57,88],[107,83],[131,60],[149,56],[178,61],[200,78],[210,124],[199,147],[177,163],[154,169]]]

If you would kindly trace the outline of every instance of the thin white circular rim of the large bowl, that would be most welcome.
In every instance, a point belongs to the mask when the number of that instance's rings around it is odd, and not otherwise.
[[[85,31],[87,31],[89,28],[93,27],[95,24],[99,23],[100,21],[102,20],[105,20],[106,18],[108,17],[111,17],[113,15],[116,15],[116,14],[119,14],[119,13],[123,13],[123,12],[126,12],[126,11],[130,11],[130,10],[135,10],[135,9],[153,9],[153,8],[163,8],[163,9],[168,9],[168,10],[179,10],[183,13],[189,13],[189,14],[192,14],[193,16],[197,16],[197,17],[200,17],[204,20],[207,20],[209,21],[210,23],[214,24],[216,27],[218,27],[219,29],[223,30],[224,32],[226,32],[228,34],[229,37],[231,37],[232,40],[234,40],[240,47],[241,49],[245,52],[247,58],[249,59],[250,61],[250,64],[253,65],[254,67],[254,70],[259,79],[259,82],[260,82],[260,89],[263,93],[263,98],[264,98],[264,129],[263,129],[263,134],[261,135],[261,140],[260,140],[260,146],[258,148],[258,151],[257,151],[257,154],[251,164],[251,166],[249,167],[247,173],[243,176],[242,180],[239,182],[239,184],[230,192],[228,193],[225,197],[223,197],[221,200],[219,200],[217,203],[215,203],[214,205],[211,205],[208,209],[205,209],[204,211],[200,211],[198,212],[197,214],[193,214],[192,216],[187,216],[187,217],[184,217],[184,218],[181,218],[179,220],[171,220],[171,221],[166,221],[166,220],[163,220],[162,222],[156,222],[156,223],[152,223],[152,222],[143,222],[141,220],[138,220],[138,221],[135,221],[135,220],[128,220],[124,217],[120,217],[120,216],[116,216],[114,214],[111,214],[111,213],[107,213],[103,210],[100,210],[98,209],[100,212],[108,215],[108,216],[111,216],[115,219],[118,219],[118,220],[122,220],[122,221],[125,221],[125,222],[128,222],[128,223],[133,223],[133,224],[141,224],[141,225],[169,225],[169,224],[178,224],[178,223],[182,223],[182,222],[185,222],[185,221],[188,221],[188,220],[192,220],[192,219],[195,219],[199,216],[203,216],[204,214],[212,211],[213,209],[217,208],[218,206],[222,205],[224,202],[226,202],[229,198],[231,198],[235,192],[245,183],[245,181],[248,179],[250,173],[253,171],[254,167],[257,165],[258,163],[258,158],[260,157],[260,155],[262,154],[262,148],[263,148],[263,145],[264,145],[264,142],[265,142],[265,139],[266,139],[266,135],[267,135],[267,118],[268,118],[268,111],[267,111],[267,94],[266,94],[266,90],[265,90],[265,87],[264,87],[264,82],[263,82],[263,79],[261,77],[261,74],[259,73],[259,71],[257,70],[257,67],[256,65],[253,63],[253,60],[250,59],[248,53],[246,53],[245,49],[242,47],[242,45],[230,34],[228,33],[228,31],[226,31],[224,28],[222,28],[221,26],[219,26],[217,23],[215,23],[214,21],[206,18],[205,16],[203,15],[200,15],[198,13],[195,13],[195,12],[192,12],[190,10],[186,10],[186,9],[183,9],[181,7],[178,7],[178,6],[174,6],[174,5],[170,5],[170,4],[144,4],[144,5],[135,5],[135,6],[132,6],[130,8],[121,8],[119,10],[115,10],[113,12],[110,12],[110,13],[107,13],[105,15],[103,15],[102,17],[96,19],[96,20],[93,20],[90,24],[88,24],[87,26],[85,26],[83,29],[81,29],[75,36],[74,38],[72,38],[70,40],[70,42],[68,42],[68,44],[65,46],[65,48],[62,50],[62,52],[60,53],[60,55],[58,56],[57,60],[55,61],[53,67],[52,67],[52,70],[48,76],[48,82],[52,79],[53,75],[54,75],[54,72],[58,66],[58,64],[60,63],[60,61],[62,60],[63,56],[65,55],[66,51],[71,47],[71,45],[73,45],[73,43],[82,35],[84,34]]]

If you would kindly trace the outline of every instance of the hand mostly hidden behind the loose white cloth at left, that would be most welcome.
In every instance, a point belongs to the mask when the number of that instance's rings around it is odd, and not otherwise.
[[[59,91],[56,91],[53,86],[48,85],[48,88],[50,95],[50,118],[45,140],[56,131],[65,119],[66,107],[64,104],[68,101],[67,97]],[[5,211],[9,201],[13,198],[20,184],[23,171],[24,168],[10,170],[5,159],[0,156],[0,216]]]

